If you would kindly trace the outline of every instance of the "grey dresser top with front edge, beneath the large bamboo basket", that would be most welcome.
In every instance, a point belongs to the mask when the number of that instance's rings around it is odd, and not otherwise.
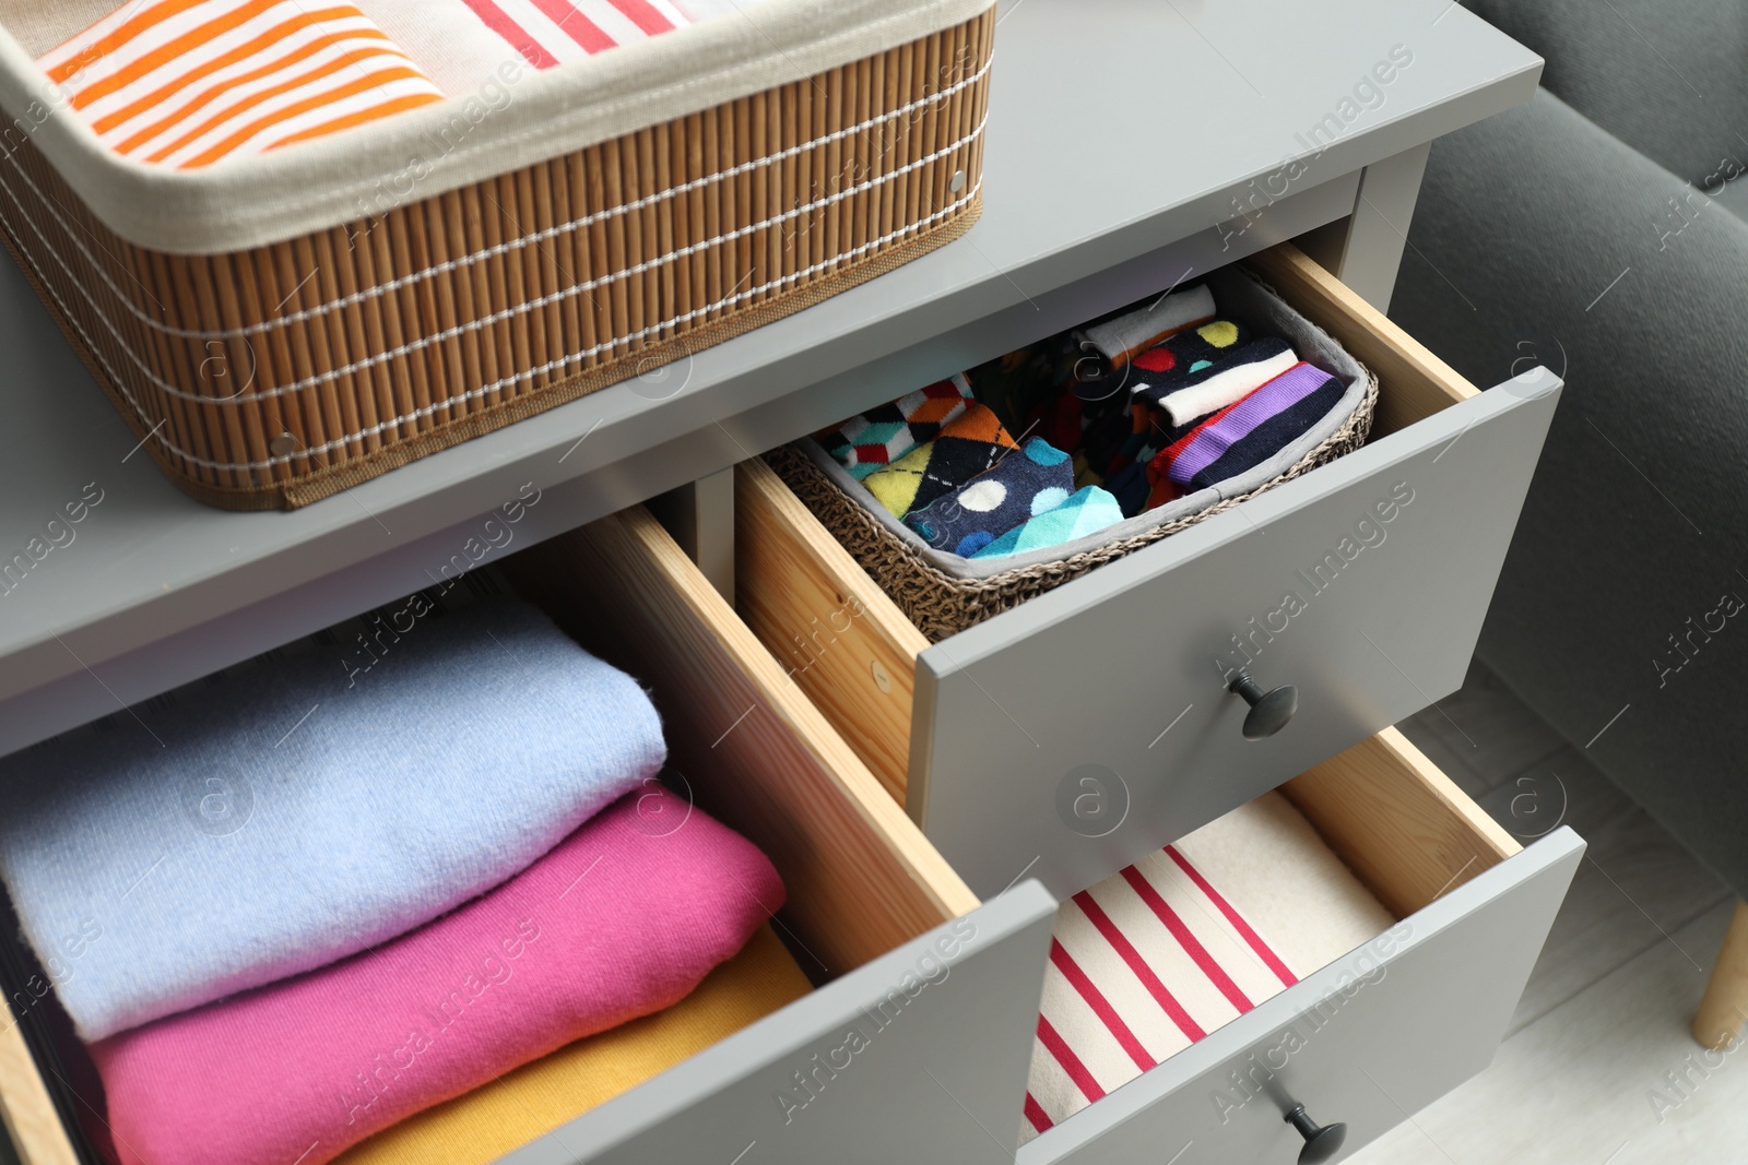
[[[1297,194],[1509,108],[1540,75],[1535,54],[1447,0],[1003,7],[984,215],[965,239],[664,376],[294,514],[220,514],[159,477],[0,264],[0,561],[40,552],[45,524],[87,484],[101,491],[73,543],[0,597],[0,702],[14,706],[0,751],[267,646],[243,641],[248,625],[294,636],[423,585],[524,484],[542,503],[512,531],[517,547],[890,398],[884,379],[855,376],[871,362],[891,376],[914,365],[921,381],[937,372],[930,362],[993,355],[954,335],[1231,218],[1234,197],[1290,159],[1316,155],[1294,175]],[[1391,51],[1390,84],[1369,80]],[[1173,89],[1194,105],[1161,105],[1168,58]],[[1356,98],[1356,86],[1369,87]],[[1133,148],[1138,117],[1168,119],[1173,148]],[[1320,122],[1339,129],[1323,150],[1308,136]],[[1040,141],[1070,143],[1061,164],[1040,164]],[[1124,180],[1086,182],[1075,155],[1122,159]],[[1231,257],[1262,234],[1234,239]]]

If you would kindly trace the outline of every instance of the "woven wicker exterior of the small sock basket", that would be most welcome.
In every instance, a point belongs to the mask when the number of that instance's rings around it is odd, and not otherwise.
[[[1134,554],[1141,547],[1204,522],[1215,514],[1231,510],[1246,498],[1255,498],[1281,482],[1353,452],[1370,437],[1376,409],[1377,376],[1367,369],[1365,393],[1346,423],[1328,440],[1262,486],[1245,494],[1222,498],[1204,510],[1155,526],[1145,533],[1110,541],[1096,550],[1075,554],[1058,562],[1014,568],[1000,575],[989,575],[988,578],[954,578],[930,564],[911,545],[881,526],[879,519],[869,514],[860,501],[846,494],[808,454],[794,445],[767,452],[766,463],[795,491],[795,496],[820,519],[825,529],[843,543],[850,557],[898,604],[898,610],[928,636],[928,641],[939,643],[972,624],[981,624],[991,615],[1012,610],[1052,587],[1061,587],[1065,582],[1080,578],[1096,566],[1120,559],[1126,554]]]

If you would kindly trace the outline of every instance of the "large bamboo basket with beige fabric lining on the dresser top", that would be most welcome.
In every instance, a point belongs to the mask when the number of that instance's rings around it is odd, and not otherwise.
[[[0,31],[0,234],[171,480],[306,505],[975,220],[991,0],[762,10],[531,75],[460,133],[449,100],[203,171],[38,115]]]

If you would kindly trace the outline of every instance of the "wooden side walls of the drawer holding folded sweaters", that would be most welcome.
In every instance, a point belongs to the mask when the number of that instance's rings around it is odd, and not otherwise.
[[[774,915],[776,931],[815,985],[977,908],[963,880],[647,510],[512,555],[502,575],[650,690],[669,746],[668,772],[683,777],[682,791],[701,809],[755,842],[783,877],[788,903]],[[52,1008],[52,997],[7,1006],[0,1013],[7,1132],[24,1165],[73,1165],[80,1156],[63,1118],[79,1121],[79,1102],[70,1085],[56,1085],[61,1072],[38,1065],[12,1015]],[[82,1055],[77,1044],[63,1051]],[[59,1093],[59,1111],[51,1093]]]

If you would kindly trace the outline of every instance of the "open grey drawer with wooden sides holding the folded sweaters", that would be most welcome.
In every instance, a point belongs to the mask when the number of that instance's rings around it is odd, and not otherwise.
[[[795,1165],[846,1146],[991,1158],[984,1127],[1016,1130],[1056,903],[1028,882],[979,906],[645,510],[512,555],[505,575],[652,692],[669,784],[771,858],[788,891],[776,929],[818,983],[510,1156],[732,1162],[757,1142],[748,1160]],[[5,1003],[44,1006],[28,990]],[[68,1132],[101,1113],[77,1086],[94,1078],[16,1018],[0,1011],[0,1114],[24,1165],[96,1165]]]

